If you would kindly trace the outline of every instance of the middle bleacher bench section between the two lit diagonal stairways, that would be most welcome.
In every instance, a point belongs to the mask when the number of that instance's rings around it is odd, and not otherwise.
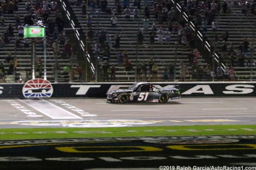
[[[140,20],[144,18],[144,5],[143,2],[141,2],[141,15]],[[152,1],[148,2],[150,5],[152,5]],[[130,1],[130,5],[132,5],[132,1]],[[108,6],[110,8],[115,6],[114,0],[108,0]],[[115,7],[116,8],[116,7]],[[130,6],[131,12],[133,11],[134,7]],[[96,8],[95,11],[100,10],[99,8]],[[86,33],[86,15],[82,15],[81,6],[72,6],[72,11],[76,16],[76,19],[79,21],[80,26],[83,29],[83,34]],[[123,38],[120,39],[120,48],[111,48],[111,64],[114,64],[115,67],[118,69],[118,61],[117,61],[117,54],[119,52],[124,52],[124,50],[127,51],[129,55],[129,59],[131,63],[133,64],[133,68],[131,71],[116,71],[116,79],[117,81],[134,81],[135,80],[135,63],[136,63],[136,54],[137,54],[137,33],[138,33],[138,27],[140,30],[143,30],[143,23],[138,21],[138,19],[133,19],[133,15],[131,15],[131,19],[126,19],[124,12],[122,12],[122,15],[117,15],[117,28],[112,28],[110,19],[111,15],[106,15],[103,12],[93,12],[92,14],[93,22],[92,22],[92,28],[95,32],[99,31],[102,28],[105,28],[108,33],[111,35],[112,38],[112,46],[114,45],[114,36],[116,33],[123,33]],[[98,24],[99,19],[99,24]],[[155,21],[154,18],[154,9],[151,7],[151,18],[150,18],[150,28],[151,25],[155,23],[157,30],[162,27],[163,29],[167,28],[167,25],[163,24],[157,24],[158,22]],[[156,61],[156,64],[159,67],[158,71],[158,81],[163,81],[163,69],[165,66],[169,66],[170,63],[174,63],[175,61],[175,52],[176,52],[176,39],[177,39],[177,32],[171,32],[171,41],[170,42],[163,42],[163,45],[161,45],[158,42],[157,36],[155,38],[155,45],[153,48],[150,48],[152,46],[149,46],[149,31],[143,31],[144,34],[144,41],[143,45],[139,45],[138,47],[138,64],[142,65],[142,62],[145,60],[150,60],[151,57],[154,58]],[[96,41],[94,41],[94,44]],[[84,42],[84,44],[86,44]],[[190,49],[183,49],[180,45],[177,46],[177,51],[180,52],[179,55],[177,55],[177,63],[176,63],[176,79],[180,79],[180,63],[183,62],[188,66],[188,59],[187,55],[190,53]],[[102,55],[102,53],[100,54]],[[198,61],[200,61],[201,65],[207,64],[202,60],[201,56],[198,58]],[[100,60],[99,62],[99,68],[103,64],[103,61]],[[187,80],[191,80],[191,75],[187,75]],[[102,79],[99,81],[102,81]]]

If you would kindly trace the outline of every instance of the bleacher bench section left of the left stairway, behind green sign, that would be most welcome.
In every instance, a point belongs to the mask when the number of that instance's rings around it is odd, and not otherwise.
[[[35,4],[35,0],[32,0],[33,4]],[[25,10],[25,3],[26,1],[19,2],[18,4],[18,14],[20,15],[20,19],[22,21],[22,24],[24,26],[24,16],[26,15]],[[58,2],[59,3],[59,2]],[[57,7],[57,10],[59,10],[59,4]],[[5,18],[5,27],[0,27],[0,33],[3,34],[6,29],[8,29],[9,23],[11,23],[15,29],[15,16],[16,12],[14,14],[3,14]],[[53,19],[55,19],[55,12],[52,12],[50,15]],[[62,17],[65,19],[65,17]],[[16,75],[20,75],[22,77],[22,81],[26,79],[27,73],[31,72],[31,43],[29,48],[16,48],[15,49],[15,37],[17,35],[17,38],[22,42],[24,39],[18,37],[18,31],[14,30],[14,37],[10,37],[10,43],[5,45],[5,48],[0,48],[0,62],[5,62],[5,58],[8,56],[9,53],[11,53],[12,57],[15,56],[15,50],[16,50],[16,57],[17,57],[17,71]],[[70,38],[69,38],[70,39]],[[41,57],[43,63],[44,63],[44,49],[38,47],[38,43],[36,45],[36,56]],[[60,45],[60,52],[63,50],[63,45]],[[60,65],[60,69],[63,70],[63,67],[66,66],[66,64],[69,62],[68,59],[58,59],[58,63]],[[55,66],[55,60],[54,55],[52,51],[52,47],[48,47],[46,49],[46,71],[47,71],[47,80],[54,82],[54,72],[53,68]],[[5,71],[9,69],[9,64],[5,63]],[[42,77],[43,78],[43,73]]]

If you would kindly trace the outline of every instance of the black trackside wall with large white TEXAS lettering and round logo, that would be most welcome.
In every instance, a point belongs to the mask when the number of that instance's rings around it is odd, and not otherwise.
[[[92,97],[106,98],[107,92],[127,89],[132,83],[55,84],[34,79],[26,84],[0,84],[0,98]],[[152,83],[156,87],[181,87],[182,97],[256,96],[256,83]]]

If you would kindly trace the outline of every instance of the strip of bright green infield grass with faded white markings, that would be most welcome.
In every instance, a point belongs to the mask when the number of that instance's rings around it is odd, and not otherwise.
[[[256,125],[0,129],[0,140],[204,135],[256,135]]]

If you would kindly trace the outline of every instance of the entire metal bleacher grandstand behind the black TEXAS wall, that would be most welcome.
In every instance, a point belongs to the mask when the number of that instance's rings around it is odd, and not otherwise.
[[[41,2],[41,1],[38,1]],[[80,1],[79,1],[80,2]],[[199,1],[198,4],[195,4],[197,7],[201,5],[202,1]],[[220,5],[224,3],[223,0],[219,1]],[[48,2],[49,4],[50,2]],[[82,3],[82,2],[80,2]],[[108,7],[110,9],[115,8],[116,1],[108,0]],[[122,2],[120,2],[122,3]],[[167,22],[158,22],[155,19],[154,15],[154,1],[148,1],[148,5],[150,6],[150,18],[149,18],[149,30],[151,30],[151,26],[153,23],[156,25],[156,29],[159,30],[163,28],[166,30],[168,28]],[[160,1],[159,1],[160,3]],[[248,1],[248,3],[251,3]],[[32,4],[37,4],[36,1],[32,1]],[[211,64],[211,70],[215,70],[216,75],[216,67],[218,63],[222,63],[222,68],[224,69],[224,64],[230,64],[229,55],[221,57],[221,50],[222,50],[222,35],[228,31],[229,38],[227,41],[227,45],[229,46],[230,43],[234,45],[234,50],[238,50],[238,46],[243,42],[245,38],[254,38],[254,29],[255,29],[255,17],[251,12],[248,12],[247,16],[241,13],[241,8],[239,5],[232,5],[232,12],[231,13],[223,13],[222,10],[220,13],[216,13],[214,18],[217,22],[217,31],[214,32],[212,30],[211,23],[208,23],[208,31],[203,32],[201,24],[197,24],[196,14],[190,15],[190,11],[187,10],[187,6],[183,1],[179,3],[174,3],[171,0],[171,6],[174,7],[175,12],[173,16],[173,25],[179,24],[186,24],[188,23],[191,32],[197,37],[195,41],[195,48],[183,47],[182,44],[179,43],[178,32],[177,31],[170,31],[170,41],[166,42],[159,42],[158,35],[155,37],[154,45],[150,45],[150,31],[143,30],[143,23],[142,20],[145,16],[144,11],[144,2],[141,2],[141,10],[140,15],[138,18],[133,18],[133,9],[134,6],[132,2],[130,2],[130,10],[131,10],[131,17],[125,18],[125,14],[122,8],[122,15],[116,15],[117,17],[117,27],[111,27],[111,17],[112,15],[108,15],[106,12],[102,12],[101,8],[96,5],[95,11],[92,12],[92,25],[91,28],[95,33],[101,31],[102,28],[105,28],[108,31],[108,34],[111,35],[112,41],[112,48],[110,48],[110,62],[109,64],[116,67],[116,81],[119,82],[129,82],[136,80],[136,63],[141,66],[143,61],[149,61],[150,58],[155,60],[159,70],[157,81],[166,81],[164,80],[163,72],[165,67],[169,66],[170,63],[175,64],[175,80],[180,80],[180,65],[181,63],[186,64],[187,66],[187,73],[186,73],[186,81],[201,81],[202,78],[192,78],[193,71],[191,70],[191,63],[188,60],[188,54],[191,51],[197,51],[199,54],[197,58],[197,65],[198,67],[202,68],[203,66],[207,66]],[[101,48],[100,52],[95,52],[94,47],[98,40],[99,34],[95,34],[93,43],[88,43],[86,41],[86,31],[88,30],[87,27],[87,15],[83,14],[83,10],[81,4],[76,4],[74,1],[59,1],[56,10],[59,10],[62,14],[62,19],[65,21],[65,28],[67,39],[69,39],[72,43],[72,50],[75,52],[78,58],[78,63],[83,68],[83,80],[88,81],[105,81],[106,76],[109,77],[110,80],[110,73],[103,72],[103,67],[105,65],[105,61],[102,58],[104,54],[104,49]],[[87,8],[88,14],[89,8]],[[247,10],[250,11],[250,10]],[[55,19],[55,11],[53,11],[49,17]],[[205,10],[199,10],[199,13],[202,15],[202,19],[204,19]],[[18,14],[23,22],[24,16],[27,14],[26,11],[26,3],[19,2],[18,4]],[[12,23],[15,27],[15,17],[16,12],[14,14],[3,14],[5,18],[5,27],[0,28],[0,32],[3,34],[6,29],[8,29],[7,25]],[[168,20],[167,20],[168,21]],[[69,29],[71,28],[71,29]],[[77,28],[77,30],[75,30]],[[81,28],[81,29],[80,29]],[[56,27],[57,29],[57,27]],[[137,33],[139,30],[142,30],[144,35],[143,44],[139,44],[137,42]],[[157,33],[157,31],[155,31]],[[122,35],[120,38],[120,48],[113,48],[115,44],[114,37],[116,33]],[[219,39],[218,42],[215,42],[215,33],[218,35]],[[27,77],[29,78],[29,74],[31,71],[31,50],[30,48],[23,48],[23,47],[16,47],[15,41],[16,38],[19,39],[22,43],[24,41],[23,38],[19,38],[17,35],[17,30],[14,30],[14,37],[10,37],[10,43],[5,45],[5,48],[0,48],[0,61],[5,62],[5,58],[9,53],[14,57],[17,57],[17,68],[16,68],[16,80],[19,77],[22,78],[22,81],[25,81]],[[48,35],[52,37],[51,34]],[[165,37],[165,36],[164,36]],[[163,38],[165,39],[165,38]],[[37,45],[36,48],[36,56],[40,56],[43,59],[44,56],[44,49],[42,47],[42,43]],[[86,47],[87,46],[87,47]],[[63,55],[64,45],[60,45],[60,55],[57,59],[59,68],[58,75],[55,74],[55,63],[56,58],[54,57],[52,45],[48,45],[46,48],[46,61],[42,60],[42,62],[46,62],[46,73],[47,73],[47,80],[51,82],[70,82],[71,79],[74,82],[78,82],[78,77],[74,78],[74,74],[76,74],[76,70],[72,69],[72,74],[70,75],[69,72],[63,72],[63,68],[67,65],[72,65],[76,63],[70,64],[70,58],[63,57],[65,56],[65,52]],[[86,51],[88,51],[88,55],[86,55]],[[120,52],[126,51],[129,56],[129,61],[131,63],[131,67],[129,70],[125,70],[124,67],[119,67],[118,65],[118,54]],[[252,56],[251,56],[252,54]],[[247,56],[248,55],[248,56]],[[255,53],[248,52],[245,57],[245,62],[248,58],[251,61],[256,60]],[[87,58],[87,60],[86,60]],[[98,60],[97,60],[98,58]],[[215,60],[214,60],[215,59]],[[86,62],[90,62],[89,65]],[[244,65],[245,65],[244,62]],[[85,64],[86,63],[86,64]],[[98,63],[98,64],[97,64]],[[103,67],[102,67],[103,66]],[[214,67],[214,69],[213,69]],[[9,69],[8,63],[5,63],[5,74],[7,74],[7,70]],[[234,70],[236,71],[236,80],[256,80],[256,67],[239,67],[237,61],[234,62]],[[95,74],[96,71],[96,74]],[[108,70],[109,71],[109,70]],[[147,67],[147,71],[149,72],[149,67]],[[85,76],[86,73],[86,76]],[[140,73],[141,74],[141,73]],[[12,75],[9,75],[8,80],[12,80]],[[40,76],[43,78],[43,70],[41,70]],[[57,78],[56,78],[57,77]],[[90,78],[91,77],[91,78]],[[149,79],[147,74],[147,79]],[[7,79],[6,79],[7,80]],[[152,79],[151,79],[152,80]],[[210,79],[212,80],[212,79]],[[12,81],[11,81],[12,82]]]

